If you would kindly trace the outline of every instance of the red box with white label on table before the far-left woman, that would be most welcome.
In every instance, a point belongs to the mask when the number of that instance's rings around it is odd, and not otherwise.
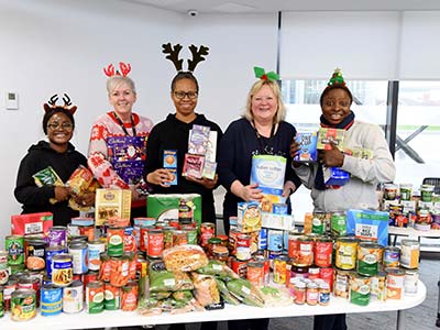
[[[53,215],[51,212],[11,216],[11,234],[13,235],[41,233],[47,235],[52,226]]]

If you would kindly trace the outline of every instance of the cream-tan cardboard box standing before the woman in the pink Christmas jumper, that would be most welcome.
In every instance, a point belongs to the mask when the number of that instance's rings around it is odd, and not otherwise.
[[[102,226],[108,218],[130,219],[131,191],[129,189],[97,189],[95,224]]]

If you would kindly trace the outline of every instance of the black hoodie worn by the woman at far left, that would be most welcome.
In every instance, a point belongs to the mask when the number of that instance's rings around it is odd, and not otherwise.
[[[52,166],[63,183],[66,183],[79,165],[87,166],[87,158],[70,143],[64,153],[54,151],[46,141],[33,144],[21,161],[16,175],[14,195],[23,205],[22,213],[52,212],[54,226],[66,226],[70,222],[70,218],[78,217],[79,212],[70,209],[67,201],[52,205],[48,200],[55,197],[55,188],[53,186],[38,188],[32,176]]]

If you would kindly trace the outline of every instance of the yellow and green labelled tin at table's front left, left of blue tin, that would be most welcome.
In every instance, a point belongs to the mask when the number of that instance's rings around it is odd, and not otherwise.
[[[36,293],[33,289],[14,290],[11,295],[11,319],[28,321],[36,316]]]

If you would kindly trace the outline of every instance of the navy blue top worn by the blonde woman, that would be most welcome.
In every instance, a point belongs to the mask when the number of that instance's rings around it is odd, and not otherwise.
[[[297,187],[300,180],[292,169],[290,143],[296,135],[296,129],[282,121],[272,138],[258,138],[254,127],[245,118],[233,121],[220,141],[218,154],[219,182],[227,189],[223,201],[223,221],[229,230],[229,217],[237,216],[237,204],[243,201],[231,193],[231,185],[239,180],[243,186],[250,184],[252,155],[267,153],[284,156],[286,162],[285,182],[292,180]]]

